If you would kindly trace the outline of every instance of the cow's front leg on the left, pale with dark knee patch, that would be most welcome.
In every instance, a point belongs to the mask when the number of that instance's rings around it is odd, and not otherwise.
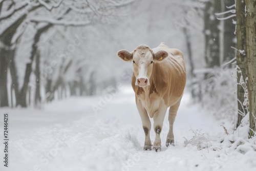
[[[151,150],[152,149],[152,143],[151,143],[151,140],[150,140],[150,130],[151,130],[150,118],[148,117],[147,112],[143,108],[140,101],[137,103],[137,109],[139,111],[140,118],[141,118],[141,121],[142,121],[143,130],[144,130],[144,133],[145,133],[145,142],[144,142],[143,150]]]

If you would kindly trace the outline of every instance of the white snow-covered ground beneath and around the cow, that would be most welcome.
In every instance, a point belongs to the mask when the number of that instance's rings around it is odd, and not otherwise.
[[[185,93],[175,121],[175,146],[142,151],[144,132],[130,86],[99,97],[69,98],[43,110],[0,109],[9,113],[9,167],[0,170],[255,170],[256,139],[199,110]],[[248,119],[248,118],[247,118]],[[230,135],[226,135],[223,124]],[[151,130],[154,141],[155,133]],[[3,138],[1,138],[3,140]],[[4,145],[0,145],[3,160]]]

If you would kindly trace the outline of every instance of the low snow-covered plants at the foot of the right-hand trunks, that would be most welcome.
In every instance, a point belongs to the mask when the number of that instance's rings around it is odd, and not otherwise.
[[[224,127],[224,126],[223,126]],[[224,127],[225,128],[225,127]],[[187,140],[185,138],[184,145],[188,144],[197,146],[198,150],[206,148],[208,151],[219,151],[230,154],[238,152],[246,154],[247,152],[256,152],[256,136],[249,138],[249,113],[242,119],[241,124],[232,134],[227,134],[227,130],[220,137],[210,137],[208,134],[203,133],[202,130],[193,130],[193,138]]]

